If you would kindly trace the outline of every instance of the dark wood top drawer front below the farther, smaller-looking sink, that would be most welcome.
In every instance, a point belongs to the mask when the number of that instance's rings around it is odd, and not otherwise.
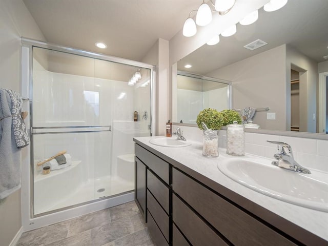
[[[142,148],[141,146],[135,144],[135,155],[145,163],[151,170],[154,171],[161,179],[163,179],[167,184],[169,184],[169,169],[170,165],[168,162],[162,160],[156,155],[152,154],[148,150]]]

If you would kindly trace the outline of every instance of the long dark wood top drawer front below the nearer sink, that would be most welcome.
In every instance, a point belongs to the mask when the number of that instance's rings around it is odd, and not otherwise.
[[[233,244],[295,245],[180,171],[173,169],[172,175],[173,191]]]

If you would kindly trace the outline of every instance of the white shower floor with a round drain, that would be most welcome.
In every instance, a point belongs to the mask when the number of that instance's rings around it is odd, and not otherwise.
[[[35,199],[34,214],[41,214],[52,210],[66,208],[79,203],[92,201],[98,198],[117,195],[127,191],[134,190],[134,181],[127,181],[117,176],[104,176],[95,179],[89,179],[82,183],[75,191],[62,200],[58,200],[53,206],[44,206],[45,197],[39,197],[39,201]]]

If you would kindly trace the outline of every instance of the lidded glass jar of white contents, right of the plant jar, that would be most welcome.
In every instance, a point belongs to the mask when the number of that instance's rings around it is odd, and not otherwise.
[[[227,126],[227,154],[245,155],[245,129],[237,121]]]

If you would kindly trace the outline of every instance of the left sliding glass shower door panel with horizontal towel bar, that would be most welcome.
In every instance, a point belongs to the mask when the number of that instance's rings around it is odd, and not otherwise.
[[[94,64],[94,58],[33,47],[34,214],[97,199],[97,162],[107,160],[110,175],[111,115],[101,105],[108,89],[95,83]]]

